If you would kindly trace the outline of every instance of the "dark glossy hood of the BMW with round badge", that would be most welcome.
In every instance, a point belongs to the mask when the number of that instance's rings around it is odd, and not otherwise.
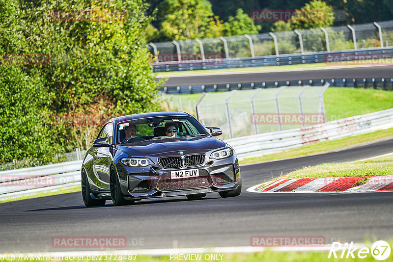
[[[223,148],[225,143],[214,136],[204,137],[178,137],[162,138],[151,141],[132,143],[127,146],[117,145],[119,150],[126,152],[131,157],[161,157],[178,155],[184,151],[184,155],[193,153],[205,153],[210,150]]]

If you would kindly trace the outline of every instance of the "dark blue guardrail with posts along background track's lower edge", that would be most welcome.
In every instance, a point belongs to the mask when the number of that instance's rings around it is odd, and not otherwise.
[[[195,94],[203,92],[224,92],[232,90],[248,90],[256,88],[275,88],[281,86],[299,85],[325,85],[329,83],[334,87],[355,87],[371,88],[393,91],[393,78],[340,78],[340,79],[299,79],[291,81],[265,81],[247,83],[226,83],[226,84],[206,84],[206,85],[184,85],[184,86],[164,86],[160,89],[165,94]]]

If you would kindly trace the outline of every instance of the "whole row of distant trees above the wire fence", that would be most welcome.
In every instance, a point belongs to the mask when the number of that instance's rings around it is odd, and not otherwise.
[[[323,26],[393,20],[392,0],[147,0],[147,3],[149,14],[156,16],[145,31],[151,42],[317,26],[295,21],[286,25],[282,22],[277,25],[276,21],[253,21],[251,11],[262,9],[300,10],[307,5],[328,6],[328,12],[339,11],[343,15],[343,19],[336,22],[328,15],[325,23],[320,23]]]

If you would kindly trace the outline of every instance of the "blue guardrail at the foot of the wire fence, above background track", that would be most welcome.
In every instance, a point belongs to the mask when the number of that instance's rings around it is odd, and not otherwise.
[[[323,51],[310,52],[305,54],[280,54],[280,55],[266,55],[259,57],[242,57],[242,58],[222,58],[211,60],[197,60],[197,61],[183,61],[183,62],[168,62],[153,64],[154,72],[171,72],[171,71],[193,71],[193,70],[209,70],[209,69],[228,69],[228,68],[242,68],[242,67],[259,67],[259,66],[277,66],[277,65],[297,65],[309,63],[328,63],[328,56],[331,55],[382,55],[384,53],[392,54],[393,48],[368,48],[358,50],[343,50],[343,51]],[[339,62],[337,62],[339,64]]]

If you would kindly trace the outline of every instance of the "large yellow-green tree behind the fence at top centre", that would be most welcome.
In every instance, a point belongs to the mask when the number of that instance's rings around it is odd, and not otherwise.
[[[171,40],[218,37],[224,29],[208,0],[165,0],[159,9],[161,33]]]

